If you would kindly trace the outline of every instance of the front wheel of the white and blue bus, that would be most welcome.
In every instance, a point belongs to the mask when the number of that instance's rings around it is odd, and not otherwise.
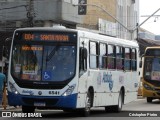
[[[86,101],[85,101],[85,108],[82,110],[82,114],[85,117],[88,117],[90,115],[91,110],[91,94],[90,92],[87,93]]]

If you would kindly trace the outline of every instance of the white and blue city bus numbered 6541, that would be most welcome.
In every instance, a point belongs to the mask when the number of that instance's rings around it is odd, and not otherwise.
[[[8,67],[8,103],[35,109],[119,112],[137,98],[136,41],[65,27],[19,28]]]

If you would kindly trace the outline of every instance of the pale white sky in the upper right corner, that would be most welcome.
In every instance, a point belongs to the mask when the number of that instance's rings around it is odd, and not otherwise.
[[[150,16],[160,8],[160,0],[139,0],[139,8],[139,23],[141,24],[145,19],[147,19],[147,17],[142,17],[143,15]],[[159,17],[151,17],[141,27],[151,33],[160,35],[160,10],[155,15],[159,15]]]

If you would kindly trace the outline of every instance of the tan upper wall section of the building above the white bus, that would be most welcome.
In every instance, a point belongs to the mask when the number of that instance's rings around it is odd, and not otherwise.
[[[101,6],[112,16],[116,17],[116,0],[88,0],[87,4],[95,4]],[[114,22],[115,20],[111,18],[107,13],[102,11],[102,9],[95,6],[87,6],[87,15],[83,18],[83,24],[79,26],[88,26],[89,28],[98,29],[99,18]]]

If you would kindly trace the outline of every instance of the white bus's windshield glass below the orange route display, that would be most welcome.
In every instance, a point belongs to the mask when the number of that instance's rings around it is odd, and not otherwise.
[[[75,74],[74,45],[16,44],[12,52],[12,75],[25,81],[65,81]]]

